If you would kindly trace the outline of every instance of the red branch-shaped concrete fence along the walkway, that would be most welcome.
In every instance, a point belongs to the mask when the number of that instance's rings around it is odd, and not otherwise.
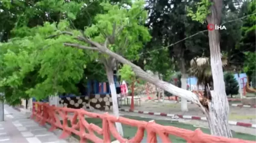
[[[37,109],[35,105],[37,105]],[[72,113],[72,115],[68,113]],[[101,118],[102,128],[95,124],[88,123],[85,116]],[[147,143],[157,143],[157,135],[162,139],[162,143],[172,143],[169,135],[181,137],[185,139],[187,143],[256,143],[255,141],[249,140],[212,136],[201,132],[200,129],[191,131],[173,126],[162,126],[154,121],[137,121],[116,117],[108,113],[96,114],[87,112],[84,109],[55,107],[40,102],[33,103],[31,118],[35,119],[35,121],[41,125],[49,123],[51,125],[49,131],[53,131],[57,128],[62,129],[63,132],[60,138],[66,138],[71,134],[78,135],[80,137],[80,143],[87,143],[88,140],[94,143],[111,143],[111,135],[116,138],[116,140],[119,140],[120,143],[140,143],[145,131],[147,132]],[[68,125],[68,121],[70,121],[71,125]],[[130,140],[123,138],[116,131],[115,122],[137,127],[136,135]],[[94,132],[102,135],[103,139],[97,137]]]

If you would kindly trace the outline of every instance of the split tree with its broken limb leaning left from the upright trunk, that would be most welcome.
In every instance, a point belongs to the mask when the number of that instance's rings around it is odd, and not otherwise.
[[[218,6],[220,5],[217,3]],[[216,12],[216,11],[213,11]],[[138,17],[135,17],[138,18]],[[227,96],[225,93],[225,87],[221,87],[221,85],[224,85],[223,77],[220,77],[223,75],[222,71],[222,63],[221,63],[221,53],[220,53],[220,47],[219,47],[219,36],[218,31],[209,32],[209,42],[210,42],[210,52],[211,52],[211,67],[212,67],[212,76],[213,76],[213,82],[214,82],[214,90],[210,91],[209,88],[207,89],[207,95],[205,97],[200,97],[188,90],[181,89],[179,87],[176,87],[173,84],[170,84],[166,81],[162,81],[160,79],[154,78],[148,73],[146,73],[144,70],[142,70],[137,65],[133,64],[128,59],[125,59],[123,56],[119,55],[117,52],[113,52],[111,50],[112,44],[115,43],[115,40],[119,39],[119,35],[122,35],[122,30],[126,26],[131,26],[131,22],[121,22],[117,24],[116,22],[113,22],[114,24],[108,25],[106,28],[111,32],[103,32],[101,38],[105,39],[105,42],[96,42],[96,40],[91,39],[88,35],[86,35],[87,31],[80,31],[81,34],[79,36],[75,36],[76,39],[79,41],[84,42],[85,44],[89,46],[85,46],[83,44],[77,44],[72,42],[65,42],[65,46],[85,49],[85,50],[97,50],[99,53],[105,53],[108,56],[111,56],[113,60],[117,60],[121,62],[122,64],[127,64],[131,66],[134,73],[140,77],[141,79],[148,81],[157,87],[162,88],[163,90],[166,90],[169,93],[172,93],[174,95],[179,96],[180,98],[185,98],[186,100],[192,101],[195,104],[197,104],[204,114],[207,117],[207,121],[209,123],[209,128],[212,135],[219,135],[219,136],[225,136],[225,137],[232,137],[230,127],[228,124],[228,112],[229,112],[229,105],[227,101]],[[111,26],[111,28],[109,28]],[[97,29],[99,31],[104,31],[105,29]],[[128,36],[128,35],[127,35]],[[132,42],[129,41],[128,38],[126,38],[126,42]],[[126,50],[129,48],[127,45],[118,45],[121,46],[119,48]],[[222,74],[221,74],[222,73]],[[213,96],[212,96],[213,95]]]

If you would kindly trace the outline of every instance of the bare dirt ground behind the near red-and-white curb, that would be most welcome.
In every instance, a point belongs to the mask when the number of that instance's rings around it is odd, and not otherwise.
[[[129,109],[129,106],[121,106],[122,109]],[[180,103],[162,103],[153,101],[144,101],[141,106],[136,106],[135,110],[148,111],[148,112],[163,112],[175,115],[192,115],[205,117],[203,112],[196,104],[188,103],[188,112],[180,111]],[[239,121],[244,123],[256,124],[256,108],[248,107],[232,107],[230,106],[230,121]]]

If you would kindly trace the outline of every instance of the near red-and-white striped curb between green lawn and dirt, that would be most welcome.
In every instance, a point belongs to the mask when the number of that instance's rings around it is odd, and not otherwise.
[[[198,116],[190,116],[190,115],[175,115],[175,114],[166,114],[166,113],[148,112],[148,111],[138,111],[138,110],[131,111],[129,109],[120,109],[119,111],[135,112],[135,113],[139,113],[139,114],[157,115],[157,116],[165,116],[165,117],[172,117],[172,118],[182,118],[182,119],[207,121],[206,117],[198,117]],[[256,128],[256,124],[252,124],[252,123],[243,123],[243,122],[237,122],[237,121],[228,121],[228,123],[230,125],[235,125],[235,126],[244,126],[244,127],[248,127],[248,128]]]

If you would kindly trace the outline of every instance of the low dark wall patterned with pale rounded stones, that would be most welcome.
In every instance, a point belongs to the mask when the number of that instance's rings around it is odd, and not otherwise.
[[[112,98],[110,94],[91,94],[89,96],[61,97],[59,98],[59,107],[68,107],[74,109],[89,109],[90,106],[99,110],[112,110]]]

